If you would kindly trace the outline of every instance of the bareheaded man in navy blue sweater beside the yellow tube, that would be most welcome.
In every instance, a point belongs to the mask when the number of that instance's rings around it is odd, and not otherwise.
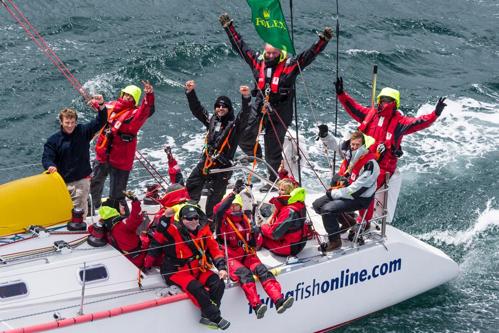
[[[74,207],[80,207],[87,216],[87,197],[90,191],[90,141],[107,122],[107,108],[102,95],[94,95],[88,105],[99,111],[94,120],[76,125],[78,114],[73,109],[59,112],[61,129],[47,139],[43,146],[41,163],[49,173],[57,171],[66,183]]]

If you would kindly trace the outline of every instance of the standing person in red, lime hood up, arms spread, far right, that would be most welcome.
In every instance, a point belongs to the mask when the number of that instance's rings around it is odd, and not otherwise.
[[[352,97],[343,91],[343,78],[337,77],[334,82],[336,95],[348,114],[360,123],[358,130],[373,137],[376,143],[370,151],[378,156],[380,174],[377,179],[377,188],[385,182],[385,173],[390,176],[395,172],[397,160],[402,156],[400,146],[402,137],[429,127],[442,114],[445,97],[440,97],[432,113],[417,118],[407,117],[399,110],[400,92],[392,88],[383,88],[377,98],[377,108],[365,107],[357,104]],[[367,209],[366,220],[372,218],[374,200]],[[362,219],[361,210],[359,221]]]

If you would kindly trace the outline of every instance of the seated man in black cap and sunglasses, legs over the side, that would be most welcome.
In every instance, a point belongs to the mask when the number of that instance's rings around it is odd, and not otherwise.
[[[206,214],[197,205],[185,204],[175,216],[162,216],[147,252],[143,270],[147,272],[161,253],[161,275],[171,286],[179,286],[201,309],[200,324],[226,330],[231,325],[220,315],[227,266],[213,238]],[[211,270],[210,259],[219,270]],[[207,291],[205,287],[208,287]]]

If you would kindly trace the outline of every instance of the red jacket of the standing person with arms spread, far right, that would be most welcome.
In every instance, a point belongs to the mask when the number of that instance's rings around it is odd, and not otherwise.
[[[392,125],[394,127],[393,133],[389,133],[389,125],[392,118],[385,119],[385,117],[379,114],[377,109],[372,109],[370,107],[365,107],[357,104],[352,97],[348,96],[346,92],[338,95],[338,99],[345,110],[348,112],[348,114],[352,116],[353,119],[361,123],[361,125],[359,126],[359,130],[361,130],[366,135],[372,136],[376,140],[376,143],[371,145],[370,147],[370,150],[372,152],[376,151],[379,142],[386,142],[386,140],[391,141],[392,147],[400,149],[400,142],[404,135],[411,134],[429,127],[435,122],[435,120],[437,120],[438,117],[435,114],[435,111],[417,118],[406,117],[398,114],[395,115],[398,118],[396,120],[397,123],[395,125]],[[373,112],[373,114],[371,114],[372,117],[370,117],[371,119],[366,124],[362,124],[364,120],[366,120],[370,112]],[[396,112],[398,113],[399,111]],[[390,137],[387,137],[387,134]],[[393,155],[392,149],[386,149],[385,155],[378,160],[379,167],[382,170],[380,172],[380,175],[384,175],[386,171],[388,171],[390,174],[393,174],[397,166],[397,160],[398,158]]]

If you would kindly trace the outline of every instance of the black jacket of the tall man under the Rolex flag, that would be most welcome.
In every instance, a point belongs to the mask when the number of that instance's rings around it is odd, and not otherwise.
[[[244,42],[241,35],[234,28],[234,25],[227,27],[225,31],[229,36],[229,40],[231,41],[232,47],[250,65],[253,77],[255,81],[258,82],[258,78],[260,75],[260,66],[262,65],[262,63],[264,63],[262,54],[254,51],[252,48],[250,48],[250,46],[248,46],[248,44]],[[284,70],[279,78],[278,90],[277,93],[270,92],[269,103],[275,108],[275,111],[279,114],[279,116],[281,117],[282,121],[286,126],[289,126],[291,120],[293,119],[292,101],[295,95],[293,85],[294,81],[296,80],[296,76],[300,73],[299,69],[303,70],[303,68],[308,66],[315,59],[317,54],[319,54],[320,52],[322,52],[322,50],[324,50],[326,45],[327,41],[319,39],[309,49],[299,54],[296,54],[291,58],[286,58],[285,60],[283,60],[286,62],[284,65]],[[271,68],[271,75],[270,77],[265,75],[265,83],[270,84],[270,80],[274,74],[276,67],[277,65],[269,67]],[[265,66],[265,69],[266,68],[267,67]],[[260,93],[259,91],[257,91],[258,87],[256,86],[255,83],[255,89],[256,89],[256,100],[254,102],[255,108],[253,110],[253,115],[251,119],[254,119],[261,112],[261,106],[263,105],[263,96],[265,96],[265,86],[263,87],[263,89],[261,89]],[[270,115],[270,118],[274,122],[279,122],[279,118],[276,115]]]

